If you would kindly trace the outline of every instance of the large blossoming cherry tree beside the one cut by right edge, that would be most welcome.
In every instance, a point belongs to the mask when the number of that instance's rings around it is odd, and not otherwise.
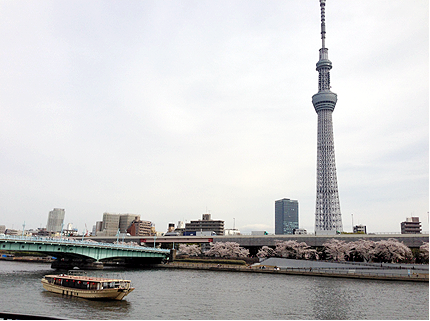
[[[412,258],[412,251],[403,242],[390,238],[376,242],[375,248],[371,250],[374,259],[380,262],[402,262]]]

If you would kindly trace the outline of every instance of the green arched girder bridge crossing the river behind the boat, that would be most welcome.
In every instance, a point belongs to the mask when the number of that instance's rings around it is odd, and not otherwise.
[[[170,250],[137,245],[8,235],[0,237],[0,250],[48,254],[57,258],[51,267],[59,269],[100,269],[103,261],[115,260],[130,265],[150,265],[170,256]]]

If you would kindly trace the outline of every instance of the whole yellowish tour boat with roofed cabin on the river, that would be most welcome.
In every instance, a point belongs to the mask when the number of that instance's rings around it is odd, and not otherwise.
[[[129,280],[90,277],[80,271],[45,275],[42,285],[50,292],[91,300],[122,300],[134,290]]]

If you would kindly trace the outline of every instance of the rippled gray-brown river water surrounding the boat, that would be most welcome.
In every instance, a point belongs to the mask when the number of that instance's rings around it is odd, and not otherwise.
[[[103,270],[132,280],[122,301],[62,297],[42,288],[49,264],[0,261],[0,312],[67,319],[429,319],[429,284],[194,270]],[[55,272],[54,272],[55,273]]]

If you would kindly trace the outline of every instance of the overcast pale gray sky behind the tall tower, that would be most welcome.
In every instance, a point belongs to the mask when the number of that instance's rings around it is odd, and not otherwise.
[[[429,3],[328,0],[345,231],[428,231]],[[320,8],[310,1],[0,1],[0,224],[206,211],[314,230]]]

